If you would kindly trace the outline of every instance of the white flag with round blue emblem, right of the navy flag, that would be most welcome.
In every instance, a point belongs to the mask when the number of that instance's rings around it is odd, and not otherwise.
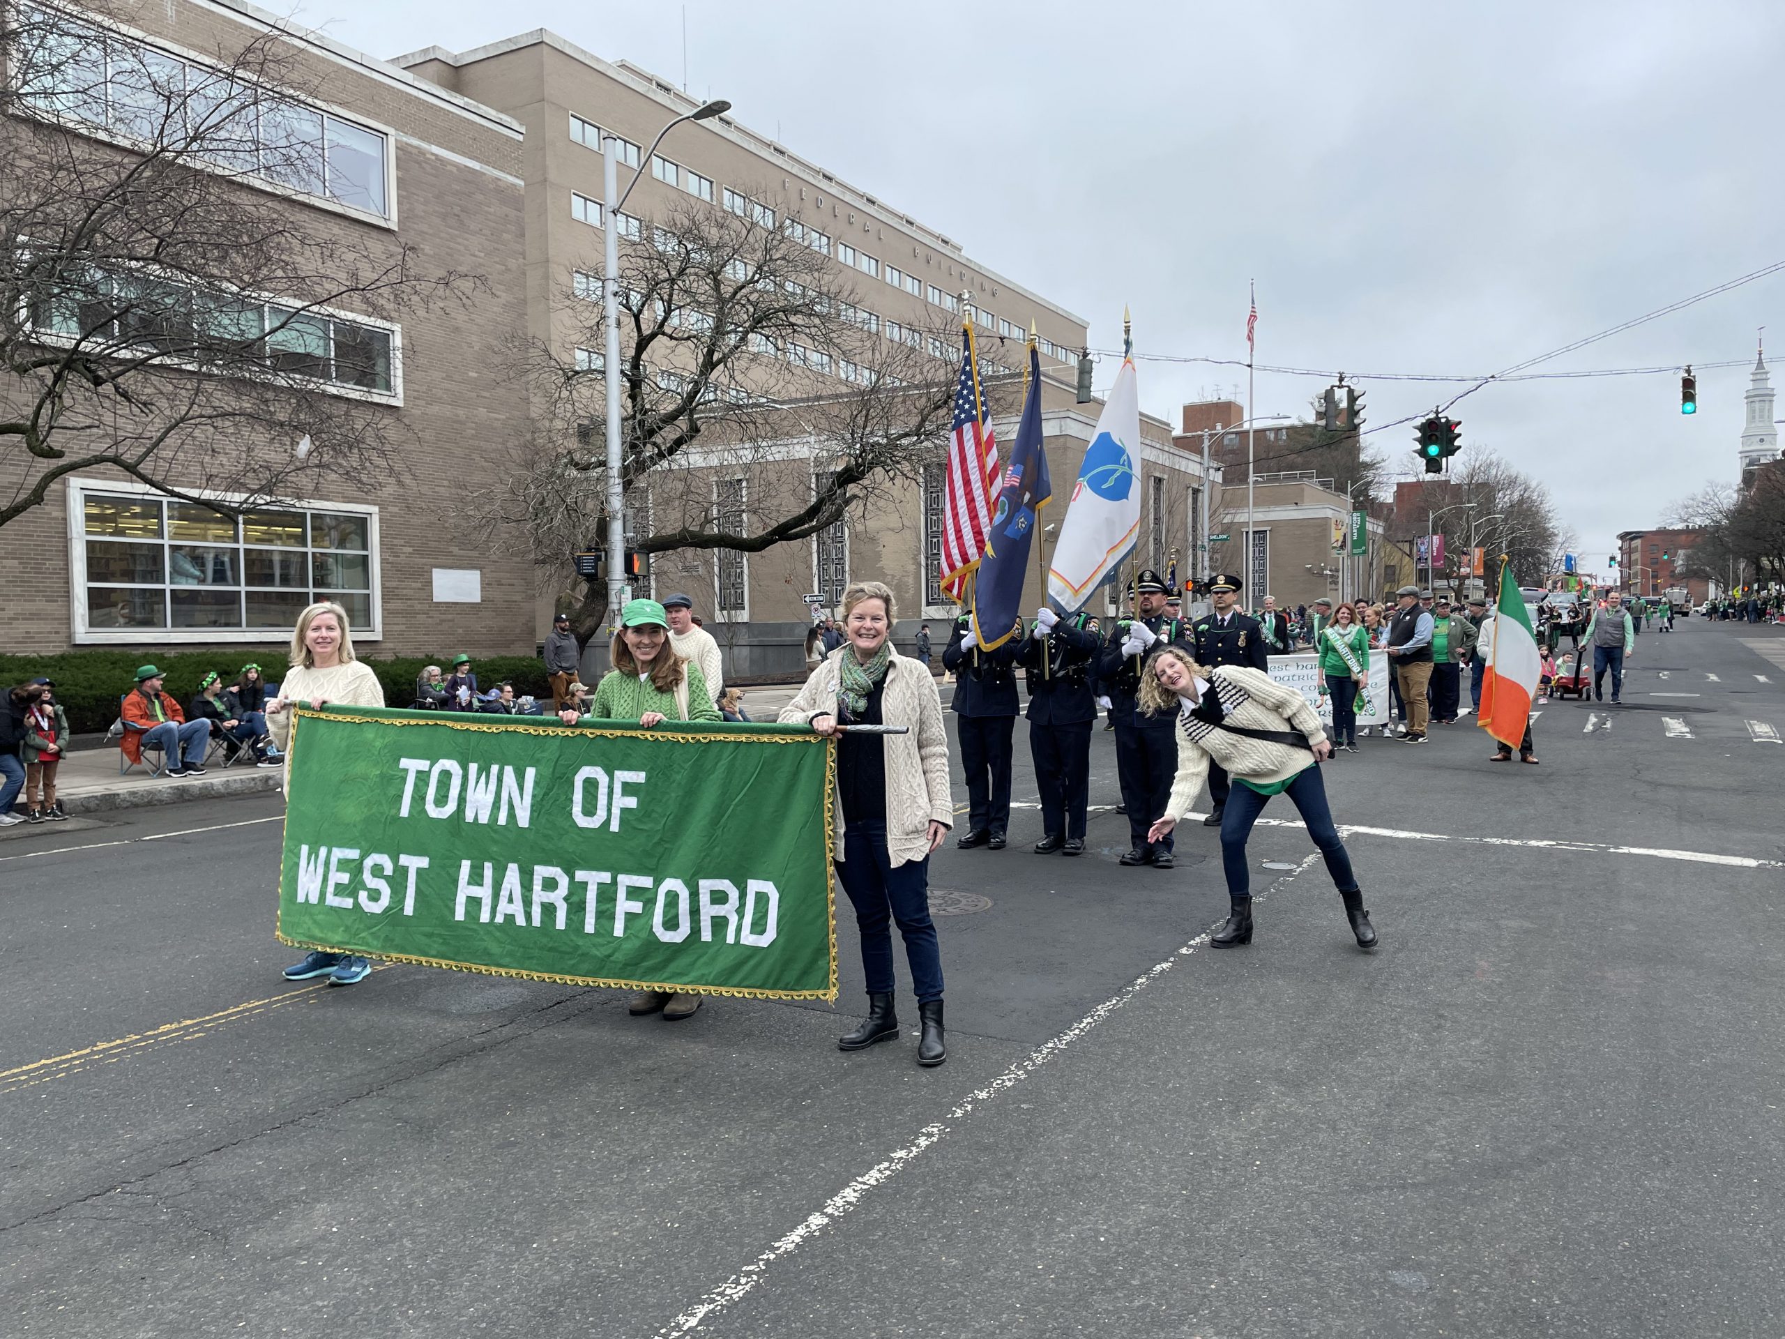
[[[1060,521],[1048,595],[1067,614],[1116,570],[1141,534],[1141,393],[1123,359]]]

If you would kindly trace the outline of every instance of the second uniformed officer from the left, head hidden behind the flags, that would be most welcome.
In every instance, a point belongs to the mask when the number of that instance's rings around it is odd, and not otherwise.
[[[1041,841],[1035,855],[1083,855],[1085,802],[1091,793],[1091,730],[1098,703],[1091,670],[1103,650],[1096,620],[1085,612],[1060,618],[1051,607],[1017,650],[1028,680],[1028,750],[1041,791]]]

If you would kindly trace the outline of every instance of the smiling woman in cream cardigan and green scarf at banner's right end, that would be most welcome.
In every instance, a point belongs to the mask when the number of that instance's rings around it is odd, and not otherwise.
[[[942,955],[930,921],[930,852],[942,844],[955,809],[948,789],[948,728],[930,668],[892,650],[892,591],[857,582],[843,593],[846,645],[819,662],[782,721],[903,725],[907,734],[837,736],[832,855],[837,880],[855,903],[868,975],[868,1019],[837,1048],[846,1052],[898,1035],[892,1010],[892,934],[905,939],[923,1035],[917,1064],[946,1059]]]

